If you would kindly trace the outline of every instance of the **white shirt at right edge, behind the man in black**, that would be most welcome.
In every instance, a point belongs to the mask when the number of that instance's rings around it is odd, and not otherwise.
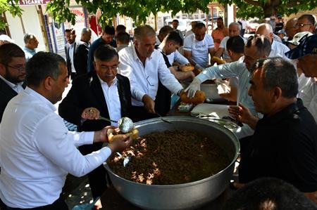
[[[317,81],[316,78],[310,78],[306,85],[299,90],[297,95],[302,98],[304,106],[307,107],[309,112],[313,115],[317,123]]]

